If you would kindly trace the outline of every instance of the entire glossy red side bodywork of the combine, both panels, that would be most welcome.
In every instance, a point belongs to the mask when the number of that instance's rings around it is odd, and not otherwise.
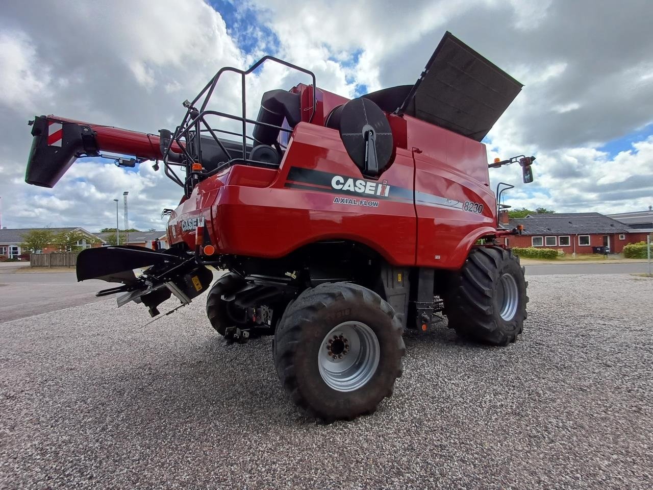
[[[295,90],[308,120],[310,88]],[[234,165],[199,184],[170,217],[170,243],[183,240],[192,248],[195,230],[184,231],[181,223],[203,216],[218,253],[272,259],[312,242],[345,239],[394,265],[459,269],[472,244],[496,232],[485,146],[409,116],[389,116],[394,160],[378,180],[366,179],[338,131],[322,126],[343,102],[318,91],[313,123],[295,127],[278,170]],[[335,189],[334,177],[367,190],[385,182],[388,195]],[[482,212],[463,210],[466,201],[483,204]]]

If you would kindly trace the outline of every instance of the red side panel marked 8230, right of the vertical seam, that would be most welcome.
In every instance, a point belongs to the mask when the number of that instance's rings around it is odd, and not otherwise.
[[[416,265],[459,269],[473,243],[496,231],[485,145],[409,116],[405,120],[415,158]],[[465,203],[483,207],[471,212]]]

